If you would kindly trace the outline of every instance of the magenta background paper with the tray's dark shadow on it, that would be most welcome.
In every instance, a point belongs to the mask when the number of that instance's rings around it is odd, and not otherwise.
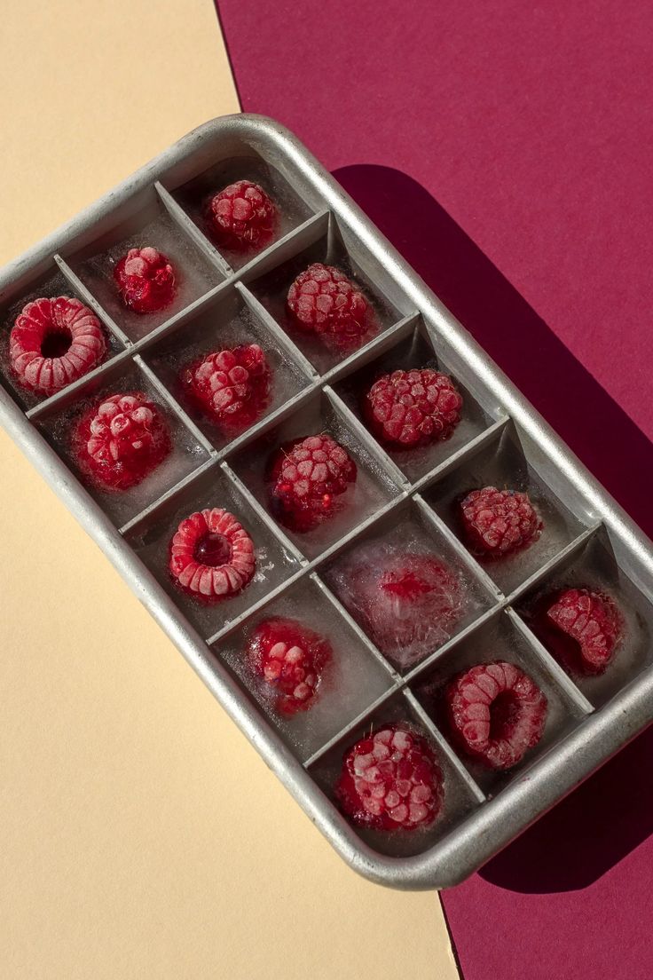
[[[651,534],[653,7],[219,0],[294,129]],[[653,734],[443,895],[466,980],[653,975]]]

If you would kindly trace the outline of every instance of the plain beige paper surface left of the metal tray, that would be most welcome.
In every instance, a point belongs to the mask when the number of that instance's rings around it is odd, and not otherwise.
[[[5,5],[0,263],[237,111],[210,0]],[[356,877],[0,430],[3,980],[457,976]]]

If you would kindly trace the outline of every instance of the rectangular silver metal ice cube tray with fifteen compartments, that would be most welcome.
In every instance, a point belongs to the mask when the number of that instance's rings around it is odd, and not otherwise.
[[[250,177],[283,210],[282,237],[238,266],[202,230],[210,188]],[[181,270],[175,306],[136,317],[116,303],[108,260],[139,243],[159,246]],[[339,360],[285,329],[283,300],[310,261],[349,270],[374,301],[379,334]],[[434,262],[437,257],[434,256]],[[470,284],[473,288],[473,283]],[[23,304],[76,295],[104,322],[110,357],[44,400],[25,396],[7,368],[7,339]],[[257,340],[275,391],[265,417],[225,444],[177,398],[175,370],[211,340]],[[428,452],[386,452],[365,428],[357,393],[380,367],[440,365],[464,395],[453,437]],[[0,417],[184,657],[355,870],[397,888],[461,881],[580,783],[653,718],[651,543],[597,484],[395,249],[303,145],[257,116],[216,119],[179,140],[97,204],[0,273]],[[75,406],[100,392],[149,390],[167,413],[175,450],[122,497],[87,489],[70,459]],[[358,466],[354,506],[304,539],[268,513],[262,466],[280,441],[327,429]],[[457,536],[451,501],[482,483],[528,489],[544,516],[521,556],[482,567]],[[197,607],[166,572],[178,520],[225,506],[250,529],[257,578],[238,597]],[[368,540],[430,542],[469,587],[470,608],[443,646],[401,673],[338,598],[339,562]],[[598,678],[574,682],[529,626],[543,589],[591,584],[617,595],[627,640]],[[274,716],[239,653],[263,613],[302,614],[328,632],[337,678],[312,711]],[[465,665],[518,662],[545,691],[544,736],[515,770],[492,774],[459,756],[441,732],[433,690]],[[435,743],[445,808],[427,832],[359,831],[331,791],[344,750],[379,721],[403,718]],[[553,842],[554,846],[554,842]]]

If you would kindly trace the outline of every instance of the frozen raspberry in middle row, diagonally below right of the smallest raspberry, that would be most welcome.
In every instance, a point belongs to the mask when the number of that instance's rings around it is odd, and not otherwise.
[[[270,368],[257,344],[208,354],[181,374],[191,402],[219,428],[239,431],[256,421],[269,399]]]

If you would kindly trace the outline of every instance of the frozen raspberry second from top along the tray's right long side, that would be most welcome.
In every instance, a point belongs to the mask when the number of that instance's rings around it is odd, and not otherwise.
[[[288,291],[288,312],[299,329],[327,344],[353,350],[377,331],[374,311],[360,289],[333,266],[315,262]]]

